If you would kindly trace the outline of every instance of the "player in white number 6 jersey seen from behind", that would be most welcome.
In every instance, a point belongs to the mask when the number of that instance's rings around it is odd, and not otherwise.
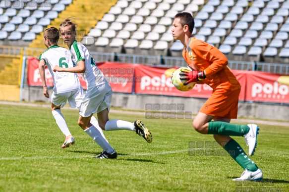
[[[69,147],[70,144],[74,144],[75,140],[66,125],[66,121],[60,111],[60,108],[66,104],[67,100],[72,108],[79,108],[84,98],[84,92],[75,73],[56,73],[52,71],[56,65],[61,68],[73,67],[69,50],[59,47],[57,44],[58,39],[59,31],[57,28],[51,27],[45,30],[43,41],[48,49],[39,57],[39,73],[43,84],[43,94],[47,98],[49,98],[50,95],[48,93],[45,80],[45,65],[48,67],[52,75],[54,88],[51,96],[51,110],[58,127],[65,135],[65,141],[62,144],[62,148],[66,148]],[[111,147],[105,139],[102,129],[100,129],[98,126],[96,118],[92,117],[91,122],[95,125],[94,132],[96,133],[96,143],[104,149],[107,149],[106,146]]]

